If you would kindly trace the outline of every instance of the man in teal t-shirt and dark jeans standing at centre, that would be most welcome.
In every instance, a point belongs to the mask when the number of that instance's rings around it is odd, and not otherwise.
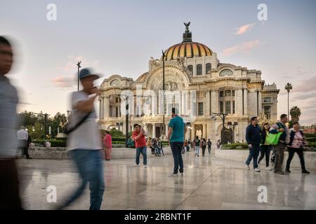
[[[183,176],[183,159],[182,159],[182,148],[184,143],[184,136],[186,132],[185,123],[183,123],[183,118],[178,116],[178,111],[172,109],[172,119],[169,123],[169,133],[168,141],[171,146],[171,151],[173,155],[174,168],[173,174],[171,176],[178,176],[178,171],[180,175]]]

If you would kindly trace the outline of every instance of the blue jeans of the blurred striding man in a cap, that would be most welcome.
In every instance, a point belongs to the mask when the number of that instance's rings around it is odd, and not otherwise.
[[[90,210],[100,210],[105,183],[103,179],[103,159],[100,150],[75,149],[70,155],[79,169],[82,179],[81,186],[74,192],[65,204],[65,207],[77,200],[84,192],[86,184],[90,186]]]

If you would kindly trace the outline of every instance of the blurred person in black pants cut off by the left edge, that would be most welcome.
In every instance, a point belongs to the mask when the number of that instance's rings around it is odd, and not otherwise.
[[[6,77],[12,64],[11,43],[0,36],[0,210],[22,209],[15,165],[18,92]]]

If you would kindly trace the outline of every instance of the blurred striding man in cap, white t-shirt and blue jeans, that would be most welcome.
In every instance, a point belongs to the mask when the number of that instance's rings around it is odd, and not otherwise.
[[[81,69],[79,78],[83,90],[72,92],[72,118],[69,125],[72,132],[68,135],[67,147],[79,169],[82,183],[72,197],[59,209],[74,202],[83,193],[86,184],[89,182],[90,210],[100,210],[105,190],[101,154],[103,147],[102,138],[96,124],[96,110],[93,106],[94,101],[100,95],[100,90],[94,87],[93,81],[98,79],[99,76],[93,73],[91,69]]]

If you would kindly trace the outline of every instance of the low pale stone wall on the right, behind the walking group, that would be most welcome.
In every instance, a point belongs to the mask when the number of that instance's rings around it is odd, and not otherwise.
[[[272,152],[271,152],[272,154]],[[248,158],[249,150],[227,150],[227,149],[217,149],[215,150],[215,157],[222,158],[225,160],[233,160],[237,162],[245,162]],[[287,164],[287,158],[289,153],[285,151],[283,165]],[[304,160],[306,169],[316,169],[316,152],[304,152]],[[265,165],[265,158],[261,161],[261,164]],[[296,153],[291,161],[291,167],[301,168],[301,163]]]

